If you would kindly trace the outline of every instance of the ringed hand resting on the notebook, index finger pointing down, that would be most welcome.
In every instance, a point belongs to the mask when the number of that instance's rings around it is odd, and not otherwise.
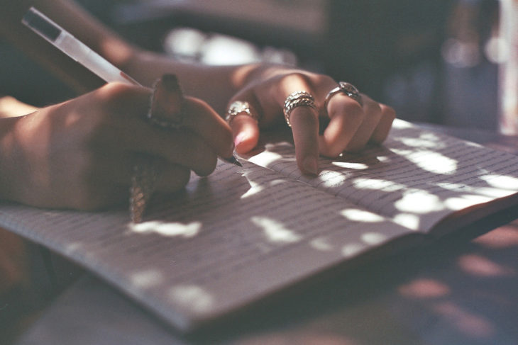
[[[258,143],[259,128],[284,121],[282,107],[294,91],[312,94],[316,111],[300,106],[290,114],[293,140],[299,169],[306,174],[318,174],[319,154],[337,157],[344,151],[358,151],[368,142],[379,144],[385,140],[395,118],[389,106],[373,101],[361,94],[363,106],[358,101],[338,93],[329,99],[326,95],[338,84],[321,74],[288,67],[259,67],[250,73],[246,86],[233,101],[247,101],[250,112],[258,115],[258,122],[247,115],[237,115],[231,128],[238,153],[246,153]],[[319,118],[329,120],[323,135],[319,135]]]

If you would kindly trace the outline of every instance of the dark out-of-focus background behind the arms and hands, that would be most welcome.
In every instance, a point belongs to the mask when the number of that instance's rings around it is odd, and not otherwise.
[[[399,118],[497,129],[498,0],[79,0],[150,50],[205,64],[283,62],[350,81]],[[73,96],[0,42],[0,93]]]

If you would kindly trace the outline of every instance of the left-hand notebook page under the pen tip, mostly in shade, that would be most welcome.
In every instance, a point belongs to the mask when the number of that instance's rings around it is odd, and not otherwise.
[[[219,162],[145,221],[0,205],[0,225],[90,268],[180,329],[217,317],[408,232],[245,162]]]

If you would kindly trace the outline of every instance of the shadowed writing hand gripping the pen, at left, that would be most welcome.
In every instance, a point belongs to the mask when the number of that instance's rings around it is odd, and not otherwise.
[[[0,140],[0,197],[28,205],[94,210],[128,198],[140,154],[163,171],[158,188],[176,191],[190,171],[210,174],[231,157],[231,131],[209,106],[186,98],[184,128],[145,119],[150,89],[107,84],[71,101],[8,118]],[[5,123],[5,122],[4,122]]]

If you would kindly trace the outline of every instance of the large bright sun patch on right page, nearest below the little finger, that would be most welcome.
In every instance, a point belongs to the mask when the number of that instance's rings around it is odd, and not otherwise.
[[[419,168],[429,171],[432,174],[454,174],[457,171],[458,161],[444,156],[439,152],[418,149],[392,149],[397,154],[402,154],[407,159],[419,166]]]

